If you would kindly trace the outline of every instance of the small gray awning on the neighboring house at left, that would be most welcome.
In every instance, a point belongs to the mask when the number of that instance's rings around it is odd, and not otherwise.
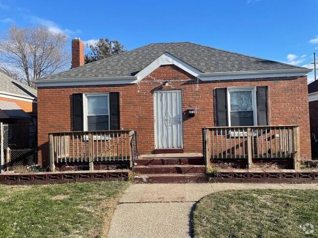
[[[31,119],[16,103],[0,100],[0,119]]]

